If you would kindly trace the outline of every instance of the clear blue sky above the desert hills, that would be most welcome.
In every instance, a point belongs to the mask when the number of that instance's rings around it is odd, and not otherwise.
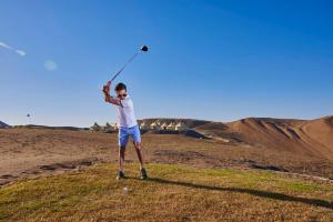
[[[138,118],[333,114],[330,0],[0,4],[0,120],[9,124],[26,124],[27,113],[36,124],[113,122],[100,87],[143,43],[151,51],[118,79]]]

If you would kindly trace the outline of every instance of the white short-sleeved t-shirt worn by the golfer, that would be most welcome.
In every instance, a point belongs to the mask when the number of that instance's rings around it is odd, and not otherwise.
[[[115,105],[118,111],[118,125],[120,128],[132,128],[138,124],[133,102],[130,95],[120,100],[120,105]]]

